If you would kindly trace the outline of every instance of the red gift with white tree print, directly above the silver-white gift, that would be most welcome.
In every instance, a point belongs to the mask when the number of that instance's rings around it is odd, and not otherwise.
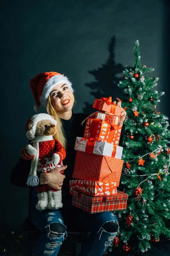
[[[101,119],[87,118],[83,137],[119,145],[121,131],[122,125],[110,125]]]

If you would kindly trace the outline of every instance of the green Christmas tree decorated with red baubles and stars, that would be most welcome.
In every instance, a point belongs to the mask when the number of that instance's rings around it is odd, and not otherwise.
[[[170,238],[170,131],[167,116],[156,111],[164,94],[153,89],[159,78],[145,75],[154,69],[141,64],[139,41],[133,51],[133,66],[126,66],[124,80],[118,84],[127,94],[122,102],[127,119],[121,189],[129,199],[127,209],[117,212],[121,233],[113,244],[130,251],[130,241],[136,239],[144,253],[161,235]]]

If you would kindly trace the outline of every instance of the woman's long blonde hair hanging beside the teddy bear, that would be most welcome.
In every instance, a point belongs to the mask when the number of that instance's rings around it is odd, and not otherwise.
[[[50,96],[48,97],[47,106],[46,106],[47,113],[51,116],[54,116],[54,119],[57,121],[57,133],[54,134],[54,139],[58,140],[61,145],[66,148],[67,140],[64,136],[64,129],[62,127],[62,120],[58,115],[57,110],[51,104]]]

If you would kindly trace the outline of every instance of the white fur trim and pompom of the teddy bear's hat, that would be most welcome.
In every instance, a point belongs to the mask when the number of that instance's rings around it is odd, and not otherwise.
[[[26,137],[29,140],[34,140],[35,139],[35,132],[36,132],[36,127],[37,127],[37,122],[39,122],[41,120],[50,120],[51,122],[53,122],[54,125],[57,125],[57,121],[48,114],[40,113],[40,114],[32,116],[31,121],[33,122],[33,126],[31,127],[30,130],[28,130],[26,132]]]

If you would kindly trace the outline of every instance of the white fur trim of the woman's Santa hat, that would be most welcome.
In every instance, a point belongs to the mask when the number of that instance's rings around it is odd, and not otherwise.
[[[59,83],[66,83],[68,87],[71,89],[71,91],[74,92],[72,83],[71,81],[69,81],[67,76],[63,76],[63,75],[52,76],[50,79],[48,79],[48,81],[45,83],[43,87],[42,95],[40,96],[40,103],[42,106],[46,107],[48,96],[51,90],[54,88],[54,86],[56,86]]]

